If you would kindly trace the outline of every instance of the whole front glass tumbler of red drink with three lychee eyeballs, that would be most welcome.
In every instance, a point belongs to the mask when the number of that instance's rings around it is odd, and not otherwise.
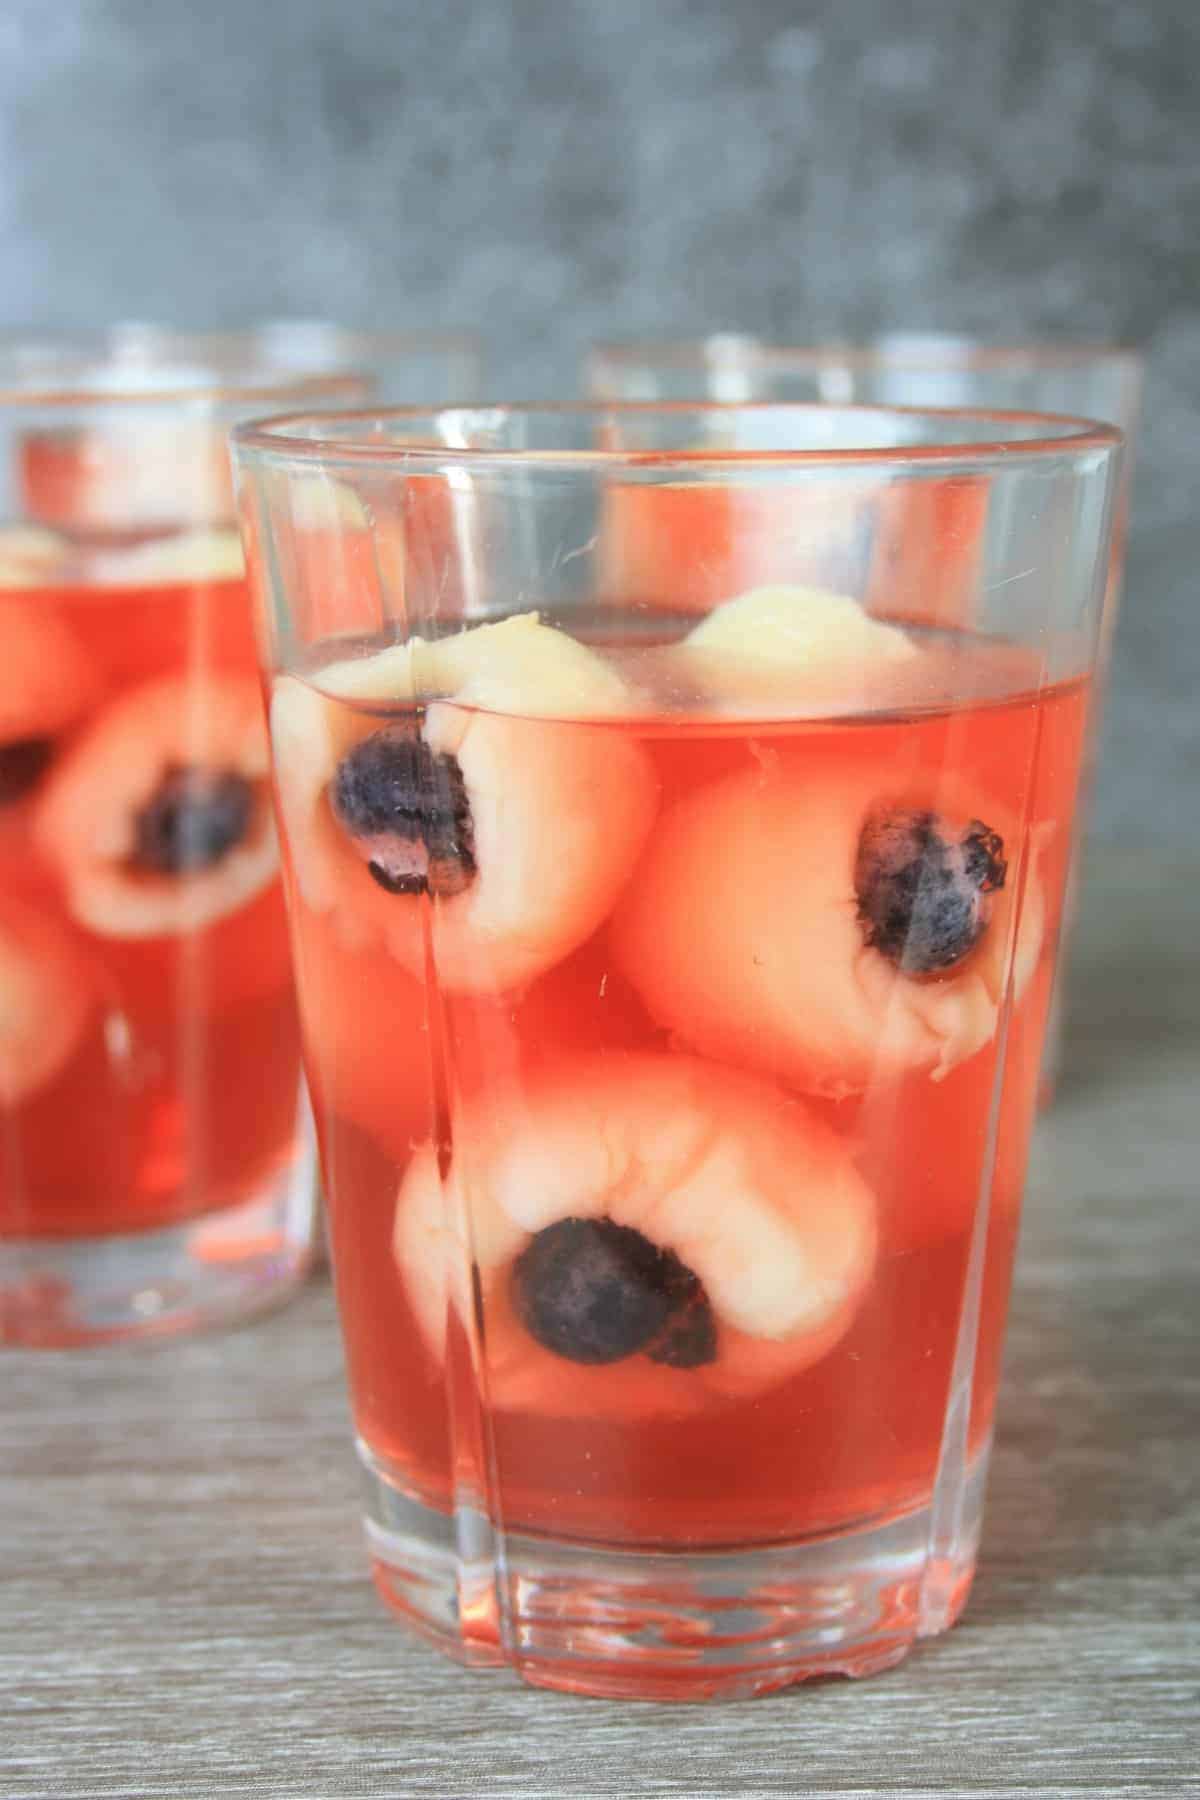
[[[236,463],[381,1593],[594,1694],[896,1661],[975,1566],[1119,434],[498,407]],[[889,616],[871,520],[936,605],[948,482],[979,608]]]

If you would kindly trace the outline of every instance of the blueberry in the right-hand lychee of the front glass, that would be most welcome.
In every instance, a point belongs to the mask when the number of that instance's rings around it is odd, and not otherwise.
[[[855,864],[865,941],[909,976],[954,968],[988,929],[988,896],[1004,887],[1004,841],[981,819],[954,826],[934,812],[878,812]]]

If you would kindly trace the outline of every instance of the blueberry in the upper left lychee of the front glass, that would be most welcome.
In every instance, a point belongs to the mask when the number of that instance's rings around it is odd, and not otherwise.
[[[475,878],[462,770],[412,731],[389,725],[356,743],[329,783],[329,805],[369,844],[367,868],[394,895],[457,895]]]

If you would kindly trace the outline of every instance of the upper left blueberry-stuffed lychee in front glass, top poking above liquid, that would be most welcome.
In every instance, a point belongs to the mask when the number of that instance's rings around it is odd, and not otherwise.
[[[527,614],[320,682],[275,682],[275,770],[300,898],[349,947],[502,992],[596,931],[657,799],[642,749],[587,722],[630,706],[601,657]]]

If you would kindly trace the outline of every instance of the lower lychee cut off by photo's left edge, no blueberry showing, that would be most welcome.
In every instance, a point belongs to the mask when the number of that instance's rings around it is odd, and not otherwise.
[[[0,898],[0,1107],[47,1087],[83,1044],[95,983],[45,913]]]

